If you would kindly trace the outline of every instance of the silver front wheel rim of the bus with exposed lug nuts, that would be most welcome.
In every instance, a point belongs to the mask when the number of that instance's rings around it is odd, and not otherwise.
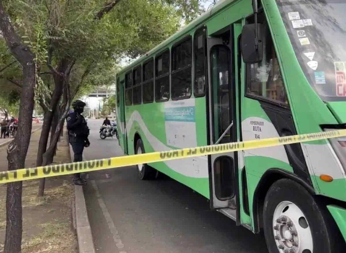
[[[312,253],[309,223],[302,210],[292,202],[283,201],[276,206],[273,232],[280,253]]]

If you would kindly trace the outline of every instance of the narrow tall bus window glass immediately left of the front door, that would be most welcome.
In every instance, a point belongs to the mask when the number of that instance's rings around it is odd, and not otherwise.
[[[195,97],[204,96],[206,93],[206,28],[194,34],[194,86]]]

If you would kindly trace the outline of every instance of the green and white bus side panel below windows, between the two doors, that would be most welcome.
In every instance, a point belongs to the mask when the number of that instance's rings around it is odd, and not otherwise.
[[[128,106],[128,154],[135,153],[136,134],[142,139],[145,152],[205,146],[206,135],[198,135],[199,132],[206,132],[205,110],[204,98]],[[207,157],[155,162],[149,165],[209,198]]]

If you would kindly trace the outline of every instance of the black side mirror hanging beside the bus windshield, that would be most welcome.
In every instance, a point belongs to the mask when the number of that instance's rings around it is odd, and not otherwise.
[[[242,31],[242,55],[245,63],[259,63],[263,58],[262,25],[257,24],[258,38],[256,36],[255,24],[243,26]],[[258,46],[256,40],[258,39]],[[257,48],[256,48],[257,47]]]

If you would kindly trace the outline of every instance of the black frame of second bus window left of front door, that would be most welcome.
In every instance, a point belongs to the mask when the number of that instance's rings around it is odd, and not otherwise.
[[[191,41],[191,63],[189,65],[186,65],[182,68],[177,68],[175,70],[173,70],[173,50],[175,47],[183,44],[185,41],[188,41],[190,40]],[[170,89],[170,93],[171,93],[171,98],[172,100],[182,100],[182,99],[189,99],[192,94],[193,94],[193,37],[191,35],[187,35],[185,37],[183,37],[182,39],[180,39],[179,41],[177,41],[176,43],[174,43],[171,47],[171,78],[170,78],[170,83],[171,83],[171,89]],[[189,96],[182,96],[182,97],[177,97],[177,98],[173,98],[172,96],[172,90],[173,90],[173,74],[177,73],[177,72],[180,72],[180,71],[183,71],[187,68],[190,67],[190,73],[191,73],[191,82],[190,82],[190,89],[191,89],[191,94]]]

